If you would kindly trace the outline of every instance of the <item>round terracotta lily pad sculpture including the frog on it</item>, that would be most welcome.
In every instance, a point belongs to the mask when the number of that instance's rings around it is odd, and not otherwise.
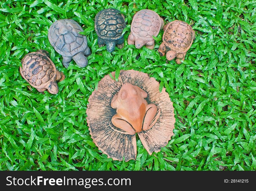
[[[165,88],[159,92],[159,83],[143,72],[121,70],[118,81],[106,75],[88,102],[90,135],[113,160],[136,160],[136,133],[150,155],[173,135],[173,103]]]

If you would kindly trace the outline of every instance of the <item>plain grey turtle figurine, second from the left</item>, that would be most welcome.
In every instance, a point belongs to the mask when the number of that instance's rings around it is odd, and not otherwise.
[[[62,63],[67,68],[73,59],[80,67],[86,67],[86,56],[91,54],[82,27],[72,19],[61,19],[54,22],[48,31],[51,46],[63,57]],[[85,56],[86,55],[86,56]]]

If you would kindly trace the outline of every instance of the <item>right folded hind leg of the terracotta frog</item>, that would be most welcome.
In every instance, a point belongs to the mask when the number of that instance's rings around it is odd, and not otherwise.
[[[157,115],[157,106],[153,103],[148,104],[146,107],[146,114],[144,117],[142,130],[146,131],[150,129],[157,122],[159,114],[157,117],[155,117],[156,115]],[[153,121],[154,118],[155,120]]]

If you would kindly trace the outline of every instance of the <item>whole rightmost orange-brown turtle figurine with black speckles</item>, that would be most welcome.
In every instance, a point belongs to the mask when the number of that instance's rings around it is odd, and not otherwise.
[[[176,57],[176,63],[180,64],[195,40],[195,31],[189,24],[179,20],[166,24],[163,30],[163,42],[158,49],[160,56],[166,54],[167,60]]]

